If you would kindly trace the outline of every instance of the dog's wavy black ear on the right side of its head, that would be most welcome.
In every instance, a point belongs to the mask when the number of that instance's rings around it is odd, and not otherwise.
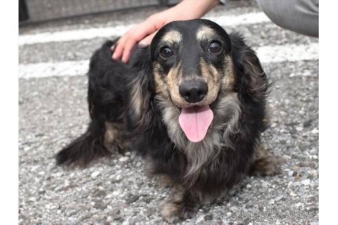
[[[245,44],[239,34],[230,34],[230,38],[236,71],[236,90],[243,99],[264,101],[270,84],[256,52]]]

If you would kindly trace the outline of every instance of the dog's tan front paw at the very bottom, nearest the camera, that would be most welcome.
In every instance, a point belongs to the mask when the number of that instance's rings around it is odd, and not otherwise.
[[[161,215],[169,223],[187,220],[196,214],[198,207],[187,202],[166,202],[161,209]]]

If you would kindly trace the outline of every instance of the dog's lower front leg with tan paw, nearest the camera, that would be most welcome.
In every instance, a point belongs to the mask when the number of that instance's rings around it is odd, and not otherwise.
[[[199,209],[201,194],[183,187],[174,187],[173,192],[170,200],[163,204],[161,215],[170,223],[191,218]]]

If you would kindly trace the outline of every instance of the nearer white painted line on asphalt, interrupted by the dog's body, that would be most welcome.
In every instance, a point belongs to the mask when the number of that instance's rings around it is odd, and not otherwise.
[[[277,45],[256,48],[262,63],[318,60],[318,43],[310,45]],[[19,65],[19,78],[46,78],[52,76],[84,75],[89,60],[65,62],[40,62]]]

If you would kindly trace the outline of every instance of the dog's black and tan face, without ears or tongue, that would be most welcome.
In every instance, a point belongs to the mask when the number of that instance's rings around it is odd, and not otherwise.
[[[157,94],[179,108],[209,106],[223,82],[232,86],[231,43],[225,30],[207,20],[174,21],[151,43]]]

